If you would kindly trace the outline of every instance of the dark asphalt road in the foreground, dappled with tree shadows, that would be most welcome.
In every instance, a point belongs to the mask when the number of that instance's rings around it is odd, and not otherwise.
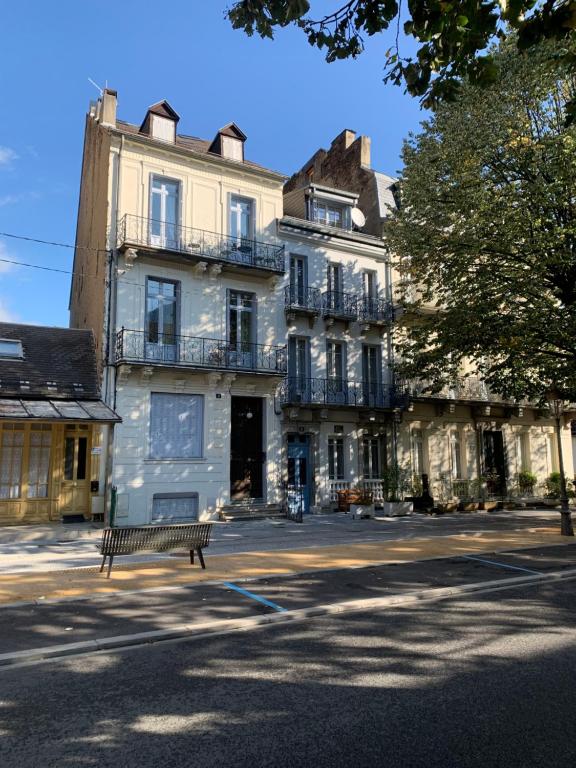
[[[0,671],[2,768],[573,768],[574,582]]]

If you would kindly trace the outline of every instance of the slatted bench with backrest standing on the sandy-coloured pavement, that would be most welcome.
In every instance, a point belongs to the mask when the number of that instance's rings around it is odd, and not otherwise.
[[[210,544],[212,523],[183,523],[178,525],[147,525],[139,528],[105,528],[98,549],[102,555],[100,573],[108,560],[110,578],[112,561],[116,555],[132,555],[135,552],[169,552],[173,549],[190,550],[190,563],[194,564],[194,552],[202,568],[206,568],[202,550]]]

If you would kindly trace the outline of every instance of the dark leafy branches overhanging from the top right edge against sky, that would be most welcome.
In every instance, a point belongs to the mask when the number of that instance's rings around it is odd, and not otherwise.
[[[272,38],[277,27],[296,25],[329,62],[355,58],[366,37],[391,27],[395,43],[386,52],[385,81],[404,83],[424,107],[452,99],[464,76],[493,82],[496,68],[486,49],[505,29],[515,30],[526,49],[566,39],[576,27],[576,0],[349,0],[317,19],[310,6],[308,0],[239,0],[226,13],[248,35]],[[417,41],[415,56],[402,55],[401,28]],[[565,64],[573,67],[574,58]]]

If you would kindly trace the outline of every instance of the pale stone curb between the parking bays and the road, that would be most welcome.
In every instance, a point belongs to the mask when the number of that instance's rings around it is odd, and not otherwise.
[[[117,635],[115,637],[105,637],[101,640],[85,640],[76,643],[67,643],[65,645],[3,653],[0,654],[0,668],[9,668],[22,662],[47,661],[49,659],[66,658],[69,656],[98,651],[128,649],[141,645],[149,645],[168,640],[180,640],[183,638],[201,639],[215,637],[232,632],[256,629],[271,624],[298,622],[306,619],[342,613],[403,607],[422,602],[444,600],[450,597],[457,597],[459,595],[466,595],[474,592],[497,592],[513,587],[544,584],[553,581],[568,581],[571,579],[576,579],[576,568],[572,568],[568,571],[542,573],[535,576],[517,576],[509,579],[495,579],[473,584],[461,584],[457,587],[423,589],[403,595],[390,595],[388,597],[376,597],[364,600],[347,600],[340,603],[328,603],[326,605],[317,605],[310,608],[297,608],[292,611],[288,610],[281,613],[253,616],[245,619],[226,619],[223,621],[210,621],[205,622],[204,624],[194,625],[179,624],[168,629],[139,632],[132,635]]]

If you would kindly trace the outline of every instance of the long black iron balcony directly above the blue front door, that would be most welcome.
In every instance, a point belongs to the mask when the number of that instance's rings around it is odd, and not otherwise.
[[[289,376],[280,388],[283,406],[391,409],[402,407],[402,396],[383,384],[346,379],[306,379]]]

